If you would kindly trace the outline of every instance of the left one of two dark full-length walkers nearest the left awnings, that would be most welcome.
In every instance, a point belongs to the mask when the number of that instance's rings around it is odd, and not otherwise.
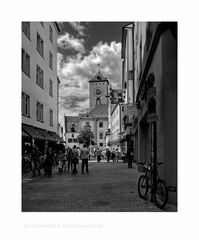
[[[38,172],[38,175],[41,176],[40,156],[41,156],[41,152],[39,151],[38,147],[34,145],[32,148],[32,156],[31,156],[32,177],[36,176],[36,171]]]

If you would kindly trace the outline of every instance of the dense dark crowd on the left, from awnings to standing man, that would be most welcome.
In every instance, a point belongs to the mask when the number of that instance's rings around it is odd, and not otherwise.
[[[71,172],[73,175],[77,174],[77,164],[80,159],[82,160],[81,173],[89,173],[88,170],[88,160],[90,158],[90,153],[86,145],[83,145],[83,148],[80,149],[73,146],[73,148],[68,147],[67,149],[59,150],[58,153],[55,153],[52,148],[47,147],[44,150],[42,155],[37,146],[32,147],[32,151],[29,153],[24,152],[22,157],[22,173],[32,171],[32,177],[35,177],[36,174],[41,176],[41,169],[43,169],[43,174],[45,176],[52,176],[53,166],[58,166],[58,172]]]

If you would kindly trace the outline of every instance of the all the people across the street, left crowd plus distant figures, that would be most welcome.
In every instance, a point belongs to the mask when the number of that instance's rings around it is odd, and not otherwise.
[[[119,159],[122,159],[122,154],[116,148],[112,151],[107,148],[105,154],[107,162],[112,160],[113,162],[118,162]],[[95,151],[95,156],[97,161],[100,162],[102,159],[102,151],[97,148]],[[128,161],[128,167],[132,168],[133,161],[133,148],[129,147],[127,150],[126,158]],[[68,147],[67,149],[63,148],[56,153],[52,148],[46,147],[44,154],[42,155],[37,146],[33,146],[32,151],[25,151],[22,158],[22,173],[32,171],[32,177],[35,177],[36,174],[41,176],[41,169],[43,169],[43,174],[45,176],[52,176],[53,166],[58,166],[58,172],[71,172],[73,175],[78,173],[77,164],[81,160],[81,173],[89,173],[88,170],[88,160],[90,159],[90,153],[86,145],[83,145],[83,148],[80,149],[76,145],[73,148]]]

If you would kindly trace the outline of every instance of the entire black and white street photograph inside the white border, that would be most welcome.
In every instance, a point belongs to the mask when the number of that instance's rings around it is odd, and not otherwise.
[[[22,211],[177,211],[177,22],[22,22]]]

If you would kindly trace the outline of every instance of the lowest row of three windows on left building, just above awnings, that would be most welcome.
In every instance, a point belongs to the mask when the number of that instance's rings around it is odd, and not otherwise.
[[[22,92],[22,114],[30,117],[30,97]],[[37,101],[36,103],[36,120],[44,122],[44,105]],[[53,126],[53,111],[49,110],[49,125]]]

